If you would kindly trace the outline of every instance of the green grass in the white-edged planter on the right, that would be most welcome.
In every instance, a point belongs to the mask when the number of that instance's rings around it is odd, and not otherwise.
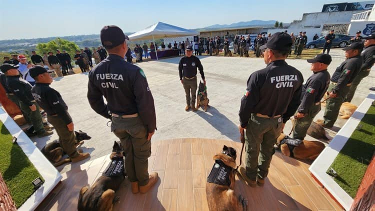
[[[375,151],[375,106],[370,106],[359,124],[361,129],[353,131],[330,166],[338,175],[334,180],[352,198]]]

